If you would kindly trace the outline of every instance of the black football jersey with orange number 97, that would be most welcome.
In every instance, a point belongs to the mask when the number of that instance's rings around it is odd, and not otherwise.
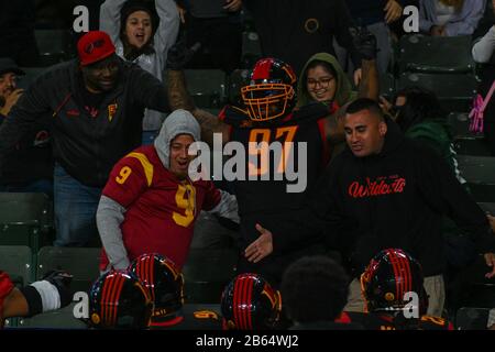
[[[328,107],[320,103],[266,122],[253,122],[243,110],[233,107],[220,112],[219,118],[231,127],[230,141],[240,142],[245,152],[244,173],[238,173],[244,177],[238,177],[233,184],[243,246],[257,238],[255,222],[277,232],[279,217],[293,217],[301,207],[330,158],[324,136],[328,116]],[[266,144],[257,145],[262,142]]]

